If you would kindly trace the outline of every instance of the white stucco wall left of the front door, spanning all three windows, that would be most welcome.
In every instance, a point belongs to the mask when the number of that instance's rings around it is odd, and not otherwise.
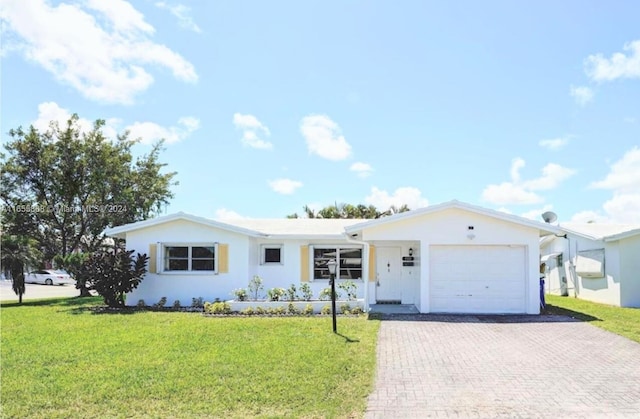
[[[140,286],[127,296],[128,305],[136,305],[142,299],[147,305],[152,305],[160,298],[167,297],[167,305],[180,300],[182,305],[190,305],[192,298],[202,297],[205,301],[230,300],[235,298],[233,290],[247,288],[254,275],[263,280],[264,289],[261,296],[265,297],[269,288],[289,288],[301,284],[300,247],[312,245],[349,245],[346,240],[269,240],[248,237],[244,234],[204,226],[185,220],[172,221],[127,233],[127,249],[139,253],[149,253],[150,244],[199,244],[224,243],[229,247],[228,273],[198,273],[198,272],[163,272],[147,273]],[[262,245],[282,245],[281,264],[261,264]],[[363,255],[363,272],[368,272],[368,258]],[[157,261],[161,266],[162,261]],[[309,258],[310,269],[313,257]],[[312,278],[312,275],[310,276]],[[338,280],[336,285],[344,282]],[[358,298],[364,296],[364,281],[354,280],[357,286]],[[320,291],[329,286],[327,280],[313,280],[308,284],[317,298]]]

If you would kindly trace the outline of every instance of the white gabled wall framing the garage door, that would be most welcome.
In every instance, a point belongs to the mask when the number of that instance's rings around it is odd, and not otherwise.
[[[473,226],[473,230],[469,230]],[[468,235],[473,234],[473,238]],[[451,208],[393,223],[371,226],[363,231],[363,240],[419,241],[420,286],[418,309],[429,310],[429,246],[431,245],[518,245],[525,247],[525,312],[540,312],[539,230],[521,224]],[[500,261],[496,261],[499,263]]]

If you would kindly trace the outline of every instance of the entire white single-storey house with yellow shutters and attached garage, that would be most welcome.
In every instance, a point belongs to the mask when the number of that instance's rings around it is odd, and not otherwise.
[[[327,262],[365,303],[413,304],[422,313],[529,313],[539,301],[539,239],[557,227],[458,201],[375,220],[213,221],[184,213],[106,232],[150,254],[127,298],[231,299],[254,275],[268,288],[328,286]]]

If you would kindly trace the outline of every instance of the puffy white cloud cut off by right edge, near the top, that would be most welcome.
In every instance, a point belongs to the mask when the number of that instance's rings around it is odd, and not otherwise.
[[[623,49],[626,55],[616,52],[611,58],[590,55],[585,60],[585,72],[594,81],[640,78],[640,39],[629,42]]]

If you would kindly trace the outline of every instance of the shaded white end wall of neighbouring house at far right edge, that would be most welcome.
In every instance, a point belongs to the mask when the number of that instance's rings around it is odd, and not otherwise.
[[[640,236],[619,242],[620,305],[640,307]]]

